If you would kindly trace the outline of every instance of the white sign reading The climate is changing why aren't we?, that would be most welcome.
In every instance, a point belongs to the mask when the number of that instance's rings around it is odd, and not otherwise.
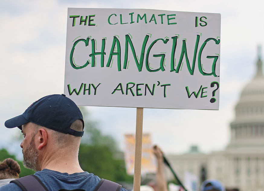
[[[77,105],[219,109],[221,15],[68,8],[64,94]]]

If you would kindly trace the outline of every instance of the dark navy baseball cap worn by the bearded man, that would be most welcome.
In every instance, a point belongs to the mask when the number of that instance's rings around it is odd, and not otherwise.
[[[22,125],[32,122],[55,131],[81,137],[84,131],[70,129],[77,119],[81,119],[84,127],[79,107],[66,95],[53,94],[35,101],[22,115],[8,119],[5,126],[7,128],[18,127],[22,130]]]

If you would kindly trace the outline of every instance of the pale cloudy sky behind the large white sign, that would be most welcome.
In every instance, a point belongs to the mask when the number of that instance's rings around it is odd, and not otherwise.
[[[166,154],[223,150],[242,88],[253,77],[257,45],[263,44],[264,2],[212,0],[4,1],[0,0],[0,148],[21,152],[4,122],[35,100],[62,94],[67,8],[144,8],[221,14],[220,108],[211,110],[144,109],[143,132]],[[136,108],[87,107],[105,134],[124,148],[124,134],[135,133]]]

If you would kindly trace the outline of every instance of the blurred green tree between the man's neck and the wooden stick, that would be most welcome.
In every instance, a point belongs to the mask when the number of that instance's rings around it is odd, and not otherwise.
[[[134,177],[126,173],[124,159],[115,157],[120,151],[114,138],[103,135],[98,129],[98,123],[90,118],[85,107],[80,109],[85,123],[79,150],[79,163],[82,169],[114,182],[133,182]]]

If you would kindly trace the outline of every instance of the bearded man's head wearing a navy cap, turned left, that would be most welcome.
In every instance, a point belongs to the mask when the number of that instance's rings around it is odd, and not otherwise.
[[[22,130],[23,164],[27,168],[41,170],[39,155],[43,157],[47,147],[48,152],[61,153],[71,149],[78,155],[84,122],[76,104],[62,94],[41,98],[22,115],[7,120],[5,126]]]

